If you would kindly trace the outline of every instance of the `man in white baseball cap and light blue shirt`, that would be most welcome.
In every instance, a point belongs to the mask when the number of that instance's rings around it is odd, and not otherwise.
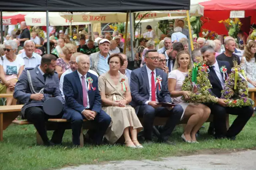
[[[110,41],[102,39],[99,42],[100,51],[90,55],[90,69],[96,71],[99,75],[109,70],[108,57],[110,57]]]

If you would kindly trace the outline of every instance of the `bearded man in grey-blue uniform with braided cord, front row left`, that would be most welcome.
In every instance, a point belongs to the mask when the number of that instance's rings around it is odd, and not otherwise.
[[[15,99],[25,103],[21,110],[23,117],[34,124],[44,145],[47,146],[60,144],[65,131],[57,129],[52,135],[52,140],[49,141],[45,121],[49,118],[61,118],[62,115],[46,115],[42,109],[44,101],[52,97],[63,103],[58,74],[55,72],[56,60],[54,55],[46,54],[43,55],[40,65],[23,70],[13,94]],[[28,79],[28,74],[30,74],[31,80]]]

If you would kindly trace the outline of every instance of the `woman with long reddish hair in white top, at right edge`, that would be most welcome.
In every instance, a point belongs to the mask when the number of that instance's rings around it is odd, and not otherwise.
[[[241,59],[241,67],[246,74],[248,87],[256,87],[256,41],[250,41],[244,50],[244,56]]]

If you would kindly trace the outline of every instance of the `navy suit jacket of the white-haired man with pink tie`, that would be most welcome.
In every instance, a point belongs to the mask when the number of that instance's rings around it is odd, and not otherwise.
[[[90,72],[86,74],[86,78],[88,77],[92,78],[92,86],[96,88],[95,90],[88,90],[89,109],[99,113],[101,110],[101,97],[98,88],[98,78]],[[64,76],[63,93],[66,101],[63,117],[70,119],[74,110],[82,113],[85,107],[83,105],[82,84],[77,70]]]

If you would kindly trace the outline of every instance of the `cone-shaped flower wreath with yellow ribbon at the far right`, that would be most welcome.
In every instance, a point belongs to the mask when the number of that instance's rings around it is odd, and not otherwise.
[[[248,82],[244,71],[236,61],[221,91],[221,98],[226,99],[228,107],[254,106],[254,101],[248,98]]]

